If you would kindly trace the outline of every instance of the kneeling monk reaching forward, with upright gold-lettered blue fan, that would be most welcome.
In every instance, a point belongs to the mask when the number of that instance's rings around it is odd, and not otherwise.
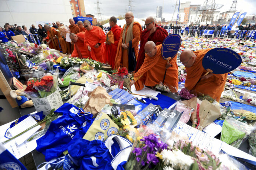
[[[178,90],[178,65],[177,53],[181,45],[181,37],[172,34],[166,37],[163,44],[155,45],[153,41],[145,44],[145,60],[141,68],[135,73],[131,85],[135,84],[136,90],[145,86],[163,84],[171,92]]]

